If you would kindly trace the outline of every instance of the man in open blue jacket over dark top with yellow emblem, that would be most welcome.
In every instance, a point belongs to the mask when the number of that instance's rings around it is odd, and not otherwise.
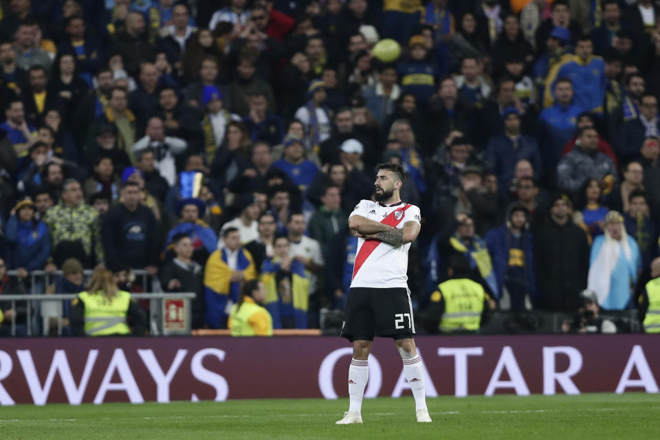
[[[500,309],[531,309],[536,300],[528,215],[525,206],[514,203],[509,206],[506,223],[485,236],[500,292]]]

